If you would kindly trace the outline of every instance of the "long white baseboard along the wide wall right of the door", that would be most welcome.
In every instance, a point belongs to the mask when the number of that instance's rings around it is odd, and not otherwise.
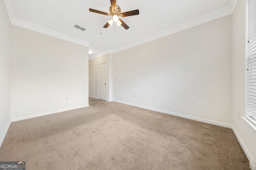
[[[174,115],[174,116],[183,117],[183,118],[186,118],[186,119],[192,119],[192,120],[201,121],[201,122],[204,122],[204,123],[210,123],[212,125],[218,125],[218,126],[227,127],[227,128],[232,129],[232,125],[230,125],[228,123],[222,123],[222,122],[212,121],[212,120],[203,119],[203,118],[199,118],[199,117],[183,115],[183,114],[180,114],[180,113],[174,113],[174,112],[171,112],[171,111],[155,109],[155,108],[151,108],[151,107],[140,106],[140,105],[126,103],[126,102],[120,102],[120,101],[117,101],[117,100],[113,100],[113,102],[127,104],[127,105],[130,105],[130,106],[141,107],[141,108],[148,109],[148,110],[158,111],[158,112],[166,113],[166,114],[169,114],[169,115]]]

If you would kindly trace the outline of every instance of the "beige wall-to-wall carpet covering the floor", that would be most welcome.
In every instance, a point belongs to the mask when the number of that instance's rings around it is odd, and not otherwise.
[[[0,161],[27,170],[249,170],[232,129],[90,98],[90,107],[13,122]]]

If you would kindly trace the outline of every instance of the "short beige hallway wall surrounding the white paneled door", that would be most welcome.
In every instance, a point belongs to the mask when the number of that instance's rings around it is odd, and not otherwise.
[[[98,98],[98,64],[107,64],[107,101],[112,101],[112,55],[89,60],[89,96]],[[93,66],[92,66],[93,65]]]

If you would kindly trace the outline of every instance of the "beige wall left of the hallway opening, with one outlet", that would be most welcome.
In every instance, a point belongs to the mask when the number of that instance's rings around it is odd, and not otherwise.
[[[12,25],[11,50],[12,120],[88,106],[88,47]]]

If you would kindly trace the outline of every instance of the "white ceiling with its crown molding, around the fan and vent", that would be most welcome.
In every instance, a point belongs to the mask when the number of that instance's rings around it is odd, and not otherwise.
[[[233,12],[237,0],[116,0],[121,12],[140,10],[121,25],[103,28],[110,0],[5,0],[14,25],[88,46],[90,58],[114,53]],[[77,29],[74,24],[86,28]],[[101,34],[102,33],[102,34]]]

